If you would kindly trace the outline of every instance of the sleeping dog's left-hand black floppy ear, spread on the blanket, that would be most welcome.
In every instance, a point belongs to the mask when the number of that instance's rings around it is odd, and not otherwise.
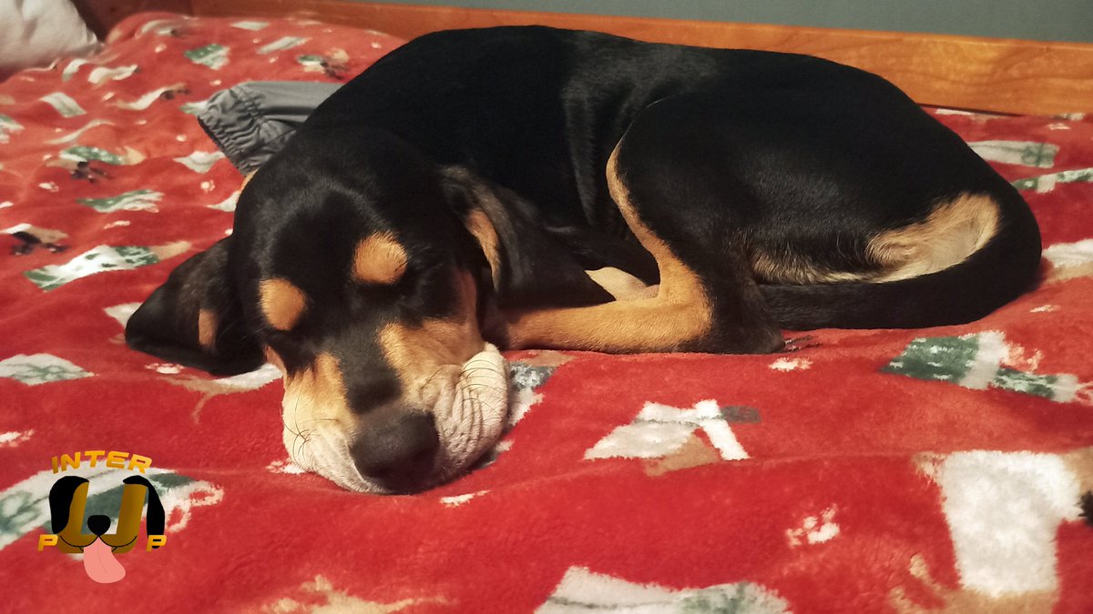
[[[183,262],[148,297],[126,324],[130,347],[213,375],[246,373],[262,364],[228,279],[228,240]]]

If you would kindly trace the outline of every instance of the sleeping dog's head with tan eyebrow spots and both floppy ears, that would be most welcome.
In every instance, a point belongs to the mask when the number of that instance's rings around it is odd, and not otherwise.
[[[214,374],[273,363],[297,464],[351,489],[415,492],[501,435],[507,367],[480,329],[485,297],[555,291],[508,258],[525,222],[473,177],[348,132],[295,137],[245,186],[232,236],[178,267],[126,335]],[[538,258],[559,283],[585,276]]]

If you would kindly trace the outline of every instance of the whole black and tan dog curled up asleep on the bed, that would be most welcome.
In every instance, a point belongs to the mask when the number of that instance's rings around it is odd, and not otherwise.
[[[1018,192],[886,81],[544,27],[421,37],[324,102],[129,344],[284,374],[284,442],[352,489],[500,437],[500,349],[764,353],[980,318],[1039,262]]]

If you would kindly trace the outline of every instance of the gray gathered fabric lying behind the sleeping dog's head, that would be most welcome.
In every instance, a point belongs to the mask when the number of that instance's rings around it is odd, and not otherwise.
[[[339,87],[339,83],[306,81],[240,83],[213,94],[198,114],[198,122],[246,175],[280,151],[315,107]]]

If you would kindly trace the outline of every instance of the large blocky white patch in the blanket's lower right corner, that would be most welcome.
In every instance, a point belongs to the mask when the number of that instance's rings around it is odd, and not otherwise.
[[[935,470],[961,585],[991,598],[1054,591],[1056,532],[1077,520],[1080,486],[1056,454],[971,451]]]

